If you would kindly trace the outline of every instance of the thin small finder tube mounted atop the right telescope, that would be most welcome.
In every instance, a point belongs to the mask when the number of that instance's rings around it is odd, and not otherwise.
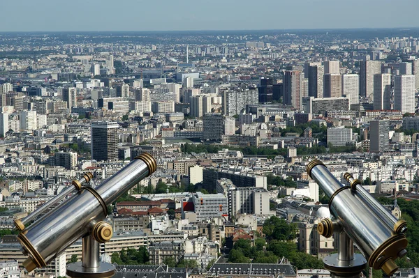
[[[362,202],[366,203],[369,208],[374,211],[376,217],[381,217],[381,220],[388,226],[388,229],[392,229],[395,233],[405,233],[407,231],[406,221],[398,220],[388,210],[381,206],[381,203],[374,199],[374,197],[361,186],[360,180],[353,178],[350,173],[345,173],[344,178],[350,184],[351,189],[356,190],[357,195],[362,199]]]

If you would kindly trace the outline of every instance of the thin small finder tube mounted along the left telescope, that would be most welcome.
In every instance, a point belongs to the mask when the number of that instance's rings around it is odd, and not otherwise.
[[[62,190],[57,196],[54,196],[54,198],[50,199],[50,201],[47,201],[44,203],[40,208],[37,208],[34,210],[33,213],[27,215],[27,217],[24,217],[22,219],[15,219],[15,226],[19,231],[24,230],[24,226],[31,222],[32,220],[36,219],[39,215],[42,215],[45,213],[45,211],[48,210],[48,208],[51,208],[55,203],[58,203],[64,197],[66,197],[68,194],[73,193],[75,190],[80,190],[82,188],[82,184],[89,183],[89,181],[93,178],[92,173],[85,173],[80,180],[73,180],[71,184],[73,186],[68,186],[64,190]]]

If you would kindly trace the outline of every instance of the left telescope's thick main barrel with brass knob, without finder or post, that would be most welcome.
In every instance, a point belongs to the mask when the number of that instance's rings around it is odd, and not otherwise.
[[[31,224],[17,236],[24,254],[29,255],[23,263],[24,268],[31,272],[37,267],[45,267],[73,242],[89,233],[96,241],[101,238],[109,240],[112,229],[102,222],[108,215],[107,206],[154,171],[156,160],[142,153],[105,180],[96,188],[97,191],[82,187],[78,194],[73,194],[48,215]]]

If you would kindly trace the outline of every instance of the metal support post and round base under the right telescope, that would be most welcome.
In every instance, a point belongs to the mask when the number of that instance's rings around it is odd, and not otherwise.
[[[332,278],[360,278],[367,265],[362,254],[354,254],[353,242],[344,231],[335,233],[338,238],[337,254],[330,254],[323,259],[325,269],[330,271]]]

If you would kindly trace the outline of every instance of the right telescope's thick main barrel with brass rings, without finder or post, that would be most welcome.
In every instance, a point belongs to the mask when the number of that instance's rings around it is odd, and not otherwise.
[[[330,213],[340,220],[342,229],[368,259],[369,266],[392,275],[397,270],[394,260],[405,254],[406,236],[389,229],[368,199],[362,198],[358,190],[341,185],[319,160],[307,165],[307,173],[330,197]]]

